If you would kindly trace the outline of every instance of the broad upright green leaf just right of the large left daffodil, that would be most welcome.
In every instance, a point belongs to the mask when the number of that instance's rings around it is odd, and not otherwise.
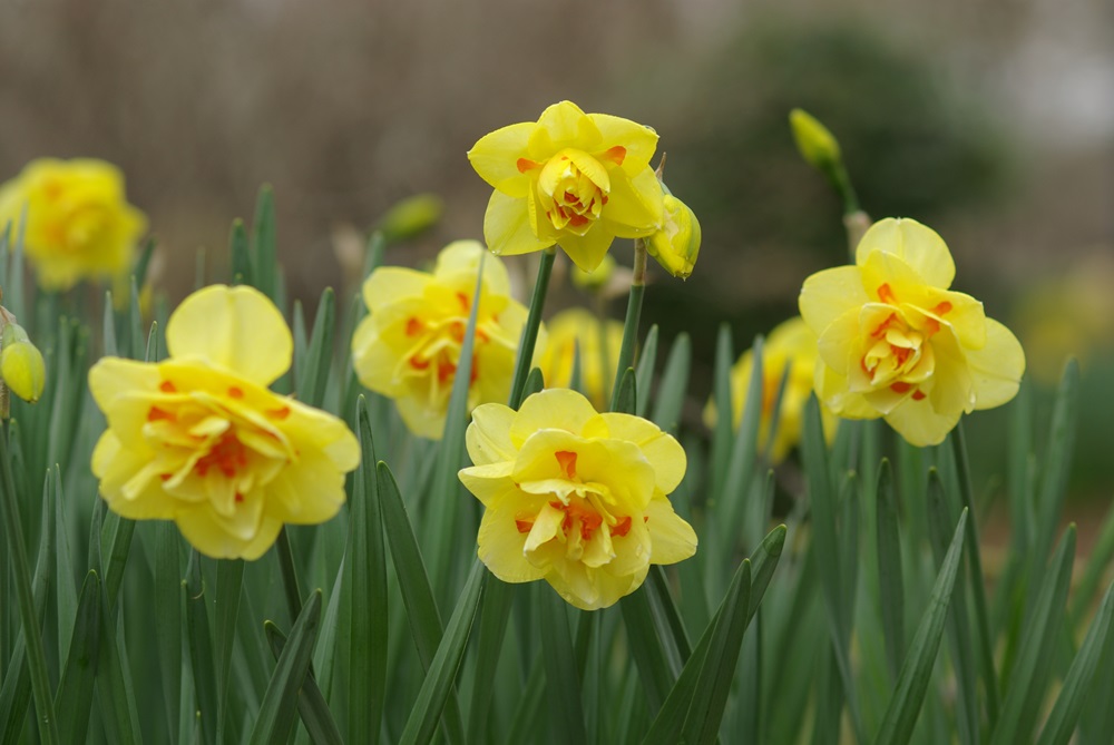
[[[353,743],[377,743],[387,699],[387,556],[371,418],[363,396],[359,399],[356,422],[360,469],[341,585],[349,609],[343,631],[348,635],[349,655],[348,738]]]

